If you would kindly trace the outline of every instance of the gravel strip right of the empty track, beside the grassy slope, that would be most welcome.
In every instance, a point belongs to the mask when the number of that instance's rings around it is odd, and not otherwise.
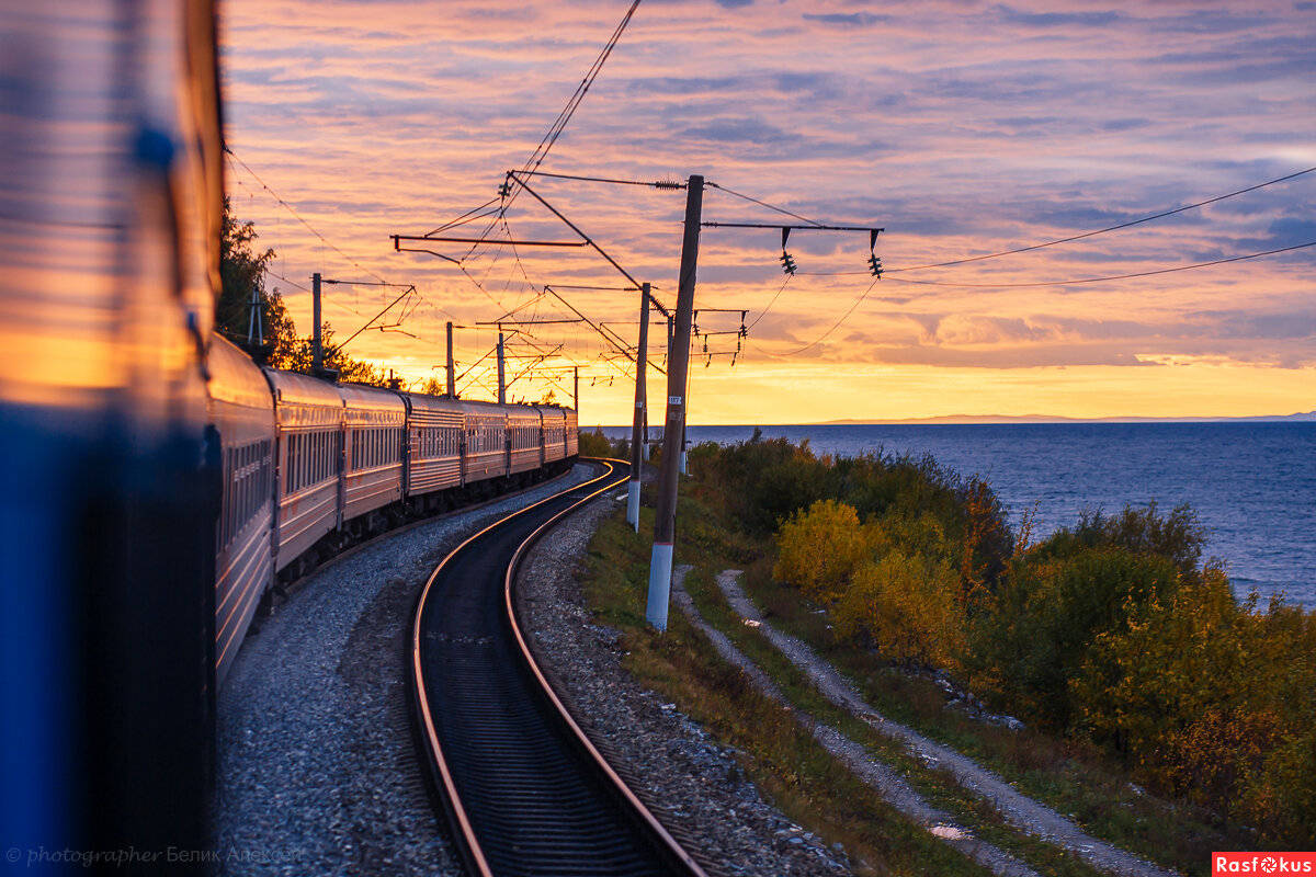
[[[844,874],[826,848],[741,777],[737,752],[641,688],[622,668],[619,632],[591,621],[576,579],[597,522],[622,488],[572,514],[522,565],[517,606],[559,697],[600,752],[709,874]],[[619,502],[620,500],[620,502]]]

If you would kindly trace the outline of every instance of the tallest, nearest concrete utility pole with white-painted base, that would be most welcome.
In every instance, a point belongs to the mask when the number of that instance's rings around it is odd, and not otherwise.
[[[667,423],[662,431],[662,471],[658,476],[658,515],[649,561],[649,605],[645,619],[667,630],[671,559],[676,542],[676,480],[686,423],[686,376],[690,373],[690,325],[695,310],[695,267],[699,262],[699,222],[704,209],[704,178],[691,175],[686,192],[686,233],[680,242],[680,281],[676,322],[667,346]]]

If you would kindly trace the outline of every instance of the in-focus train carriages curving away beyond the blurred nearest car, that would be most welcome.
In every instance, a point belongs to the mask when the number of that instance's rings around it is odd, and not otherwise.
[[[570,408],[330,383],[258,367],[221,335],[208,366],[216,685],[280,581],[345,540],[565,472],[579,454]]]

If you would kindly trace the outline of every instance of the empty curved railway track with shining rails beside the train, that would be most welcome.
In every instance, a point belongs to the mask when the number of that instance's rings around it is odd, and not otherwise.
[[[434,569],[412,627],[426,759],[474,874],[703,874],[553,693],[517,626],[512,581],[557,519],[626,467],[503,518]]]

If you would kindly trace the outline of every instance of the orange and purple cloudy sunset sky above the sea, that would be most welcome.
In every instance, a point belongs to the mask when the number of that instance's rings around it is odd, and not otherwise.
[[[453,321],[459,389],[490,398],[496,327],[479,323],[516,310],[509,396],[570,401],[579,367],[582,423],[628,422],[634,367],[586,323],[542,322],[570,305],[634,343],[638,293],[597,252],[417,245],[457,266],[390,239],[497,205],[628,8],[225,0],[226,188],[276,251],[268,285],[301,334],[312,272],[340,281],[324,305],[340,341],[415,284],[346,351],[412,384],[442,377]],[[787,276],[775,229],[703,230],[696,323],[725,334],[694,342],[692,423],[1290,414],[1316,409],[1316,246],[1071,281],[1313,243],[1316,172],[923,266],[1316,167],[1313,82],[1311,0],[644,0],[540,170],[703,175],[711,222],[797,222],[749,196],[884,229],[880,280],[867,233],[792,233]],[[675,302],[684,191],[528,181]],[[524,192],[490,239],[509,235],[579,239]],[[349,285],[380,280],[403,287]]]

